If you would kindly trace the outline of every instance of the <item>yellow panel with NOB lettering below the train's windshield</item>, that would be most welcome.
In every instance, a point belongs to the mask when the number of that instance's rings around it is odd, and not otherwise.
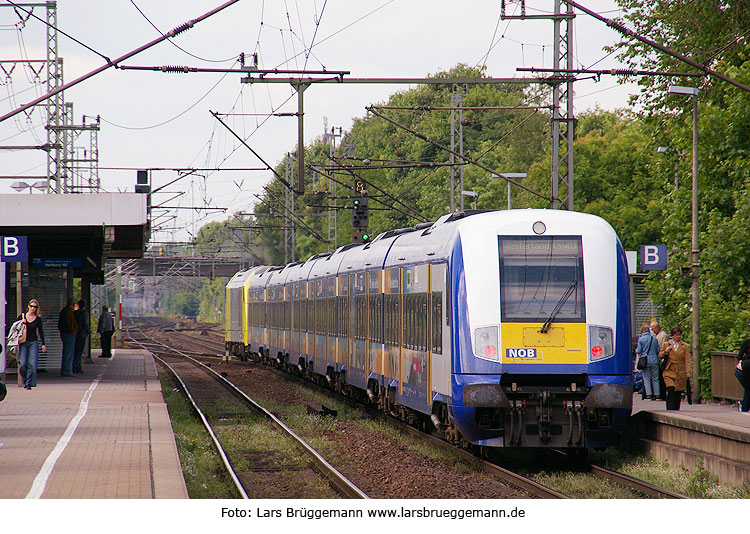
[[[503,323],[502,363],[588,363],[586,323],[556,323],[544,334],[541,328],[541,323]]]

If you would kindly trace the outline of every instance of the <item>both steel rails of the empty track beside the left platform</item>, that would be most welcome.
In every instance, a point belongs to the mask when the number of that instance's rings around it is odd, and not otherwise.
[[[214,425],[212,425],[211,421],[209,421],[209,417],[206,416],[205,412],[199,406],[199,404],[201,404],[200,398],[196,400],[196,397],[202,397],[202,400],[204,402],[209,401],[208,397],[210,397],[210,395],[205,391],[205,381],[200,382],[200,380],[196,379],[194,376],[192,378],[186,379],[186,376],[190,376],[190,373],[186,370],[186,367],[191,367],[193,369],[199,368],[201,372],[207,373],[211,376],[211,378],[215,379],[217,384],[220,384],[222,389],[228,391],[233,397],[239,399],[244,406],[250,408],[257,414],[261,414],[268,421],[270,421],[274,427],[280,430],[285,437],[291,439],[296,444],[296,446],[304,452],[312,465],[315,466],[316,471],[326,478],[331,486],[335,488],[337,493],[344,497],[353,499],[368,498],[362,490],[357,488],[351,481],[349,481],[346,477],[339,473],[330,463],[325,460],[325,458],[323,458],[320,453],[318,453],[313,447],[311,447],[307,442],[300,438],[291,428],[289,428],[274,414],[261,406],[254,399],[250,398],[244,391],[237,388],[229,380],[221,376],[221,374],[217,373],[202,362],[199,362],[195,358],[192,358],[191,356],[185,354],[184,352],[174,349],[165,343],[155,340],[150,336],[146,336],[145,334],[143,334],[143,332],[140,332],[139,335],[135,330],[130,329],[128,331],[128,336],[131,343],[137,344],[138,346],[154,354],[154,356],[165,365],[165,367],[178,381],[180,387],[189,398],[201,422],[206,428],[206,431],[211,436],[211,440],[214,443],[217,454],[222,460],[222,465],[224,466],[228,477],[233,481],[238,493],[243,498],[248,498],[249,494],[251,493],[250,489],[246,488],[245,484],[242,482],[242,479],[247,477],[243,477],[242,474],[238,473],[232,465],[229,456],[222,446],[221,440],[219,439],[217,433],[213,428]],[[176,361],[175,357],[177,357]],[[173,361],[170,362],[170,359]],[[196,385],[197,387],[194,387]],[[200,389],[202,391],[200,395],[196,395],[194,393],[191,393],[191,389],[193,391],[195,391],[196,389]],[[237,414],[234,414],[233,417],[236,418]],[[290,494],[288,496],[305,498],[304,495],[295,496]]]

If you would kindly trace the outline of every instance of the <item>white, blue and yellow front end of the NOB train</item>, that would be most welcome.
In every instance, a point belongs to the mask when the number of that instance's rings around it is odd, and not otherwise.
[[[466,267],[467,293],[482,298],[456,340],[452,414],[473,444],[604,448],[630,416],[622,254],[614,234],[564,230],[498,235],[498,264],[483,278]]]

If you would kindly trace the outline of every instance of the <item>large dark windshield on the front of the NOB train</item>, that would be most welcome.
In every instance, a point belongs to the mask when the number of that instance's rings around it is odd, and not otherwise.
[[[500,308],[504,322],[584,322],[580,236],[501,236]]]

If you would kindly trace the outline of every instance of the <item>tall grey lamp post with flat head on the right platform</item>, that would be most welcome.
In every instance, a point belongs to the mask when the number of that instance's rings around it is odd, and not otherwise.
[[[698,281],[700,277],[700,249],[698,245],[698,88],[670,85],[668,92],[673,95],[689,95],[693,97],[693,195],[692,195],[692,239],[690,251],[690,263],[692,268],[692,294],[693,294],[693,357],[690,374],[693,377],[692,393],[695,402],[700,402],[700,298],[698,293]]]

